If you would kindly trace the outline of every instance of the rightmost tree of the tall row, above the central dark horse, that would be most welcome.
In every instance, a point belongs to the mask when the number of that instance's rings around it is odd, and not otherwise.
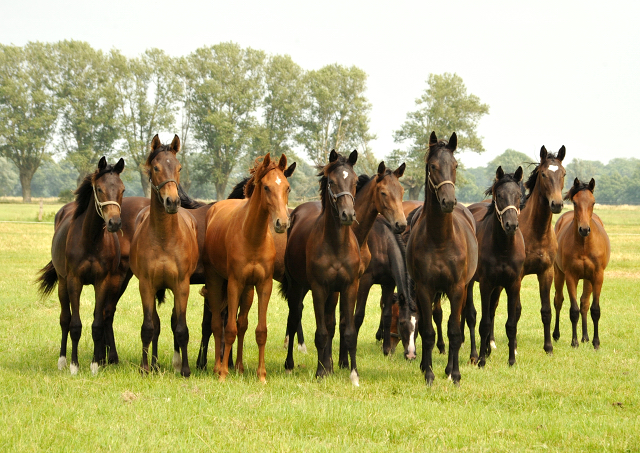
[[[316,165],[325,164],[332,149],[369,152],[375,136],[369,132],[366,82],[367,74],[355,66],[333,64],[306,74],[306,105],[296,139]]]

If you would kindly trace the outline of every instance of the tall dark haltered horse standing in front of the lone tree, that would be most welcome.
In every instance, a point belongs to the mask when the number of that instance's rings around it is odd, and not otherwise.
[[[478,262],[475,221],[468,209],[457,205],[455,198],[458,163],[453,153],[457,142],[455,132],[448,141],[438,140],[435,132],[429,137],[425,201],[413,216],[407,243],[407,270],[415,282],[419,331],[423,339],[420,368],[428,385],[435,378],[431,357],[435,343],[432,307],[442,294],[446,294],[451,303],[447,332],[449,360],[445,373],[455,384],[460,383],[460,315],[467,285]]]

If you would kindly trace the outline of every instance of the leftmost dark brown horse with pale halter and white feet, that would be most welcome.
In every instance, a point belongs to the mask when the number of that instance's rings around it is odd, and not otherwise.
[[[124,184],[120,173],[124,159],[109,165],[102,157],[98,169],[86,176],[75,191],[73,207],[56,215],[55,232],[51,245],[51,261],[42,268],[37,282],[42,297],[49,295],[58,284],[60,299],[60,327],[62,341],[58,368],[67,367],[67,340],[71,336],[72,375],[78,374],[78,342],[82,335],[80,320],[80,294],[84,285],[93,285],[96,304],[92,324],[94,343],[90,369],[93,374],[106,362],[105,340],[124,280],[120,268],[120,243],[116,233],[122,226],[121,205]],[[93,208],[92,208],[93,207]],[[112,348],[115,354],[115,342]],[[110,362],[117,362],[110,352]]]

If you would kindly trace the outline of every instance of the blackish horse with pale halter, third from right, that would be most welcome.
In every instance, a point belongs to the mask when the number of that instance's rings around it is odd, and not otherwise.
[[[491,196],[491,203],[479,203],[482,209],[469,206],[476,220],[476,238],[478,239],[478,267],[473,280],[467,289],[465,311],[473,312],[467,316],[471,339],[471,363],[478,362],[480,367],[486,364],[486,358],[491,354],[490,334],[492,332],[495,309],[491,307],[492,293],[507,292],[508,318],[506,323],[507,338],[509,339],[509,365],[516,363],[516,334],[518,320],[522,306],[520,304],[520,285],[522,282],[522,268],[525,260],[525,245],[522,232],[519,230],[518,215],[522,198],[522,167],[515,173],[506,174],[502,167],[496,170],[494,183],[485,195]],[[480,284],[482,299],[482,320],[480,321],[480,358],[476,351],[474,335],[475,308],[473,306],[473,284]],[[464,322],[462,325],[464,328]]]

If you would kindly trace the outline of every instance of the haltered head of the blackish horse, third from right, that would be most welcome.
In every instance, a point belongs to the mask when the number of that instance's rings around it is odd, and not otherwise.
[[[505,173],[502,167],[496,170],[496,179],[487,191],[493,198],[494,209],[502,229],[508,236],[518,231],[518,215],[520,214],[520,199],[522,197],[522,167],[515,173]],[[489,195],[489,193],[487,193]]]

